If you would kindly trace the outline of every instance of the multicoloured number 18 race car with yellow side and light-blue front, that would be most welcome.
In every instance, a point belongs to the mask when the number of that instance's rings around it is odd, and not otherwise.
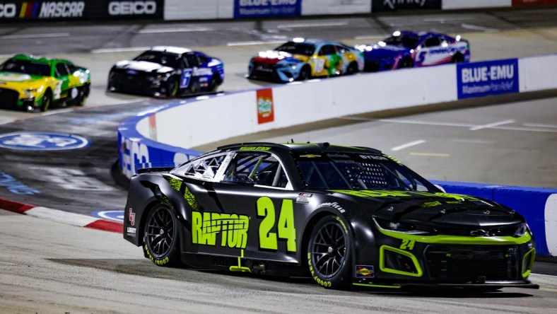
[[[304,81],[363,71],[363,53],[340,42],[294,38],[252,57],[248,79]]]

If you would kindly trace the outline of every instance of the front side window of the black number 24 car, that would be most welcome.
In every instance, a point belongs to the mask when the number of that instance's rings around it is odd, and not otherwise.
[[[288,177],[281,163],[270,153],[236,153],[228,164],[223,182],[286,187]]]

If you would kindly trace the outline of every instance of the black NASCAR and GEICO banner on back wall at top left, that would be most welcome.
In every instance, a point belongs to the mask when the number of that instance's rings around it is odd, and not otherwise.
[[[0,21],[162,19],[164,0],[0,0]]]

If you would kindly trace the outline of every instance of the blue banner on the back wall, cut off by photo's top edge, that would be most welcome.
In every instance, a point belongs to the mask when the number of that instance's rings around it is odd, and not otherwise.
[[[234,18],[300,16],[302,0],[234,0]]]

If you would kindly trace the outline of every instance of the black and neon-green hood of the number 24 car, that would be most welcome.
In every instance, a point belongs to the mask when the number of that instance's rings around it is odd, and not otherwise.
[[[479,228],[524,222],[520,214],[508,207],[459,194],[370,190],[332,192],[333,196],[348,198],[366,212],[371,211],[372,216],[387,221],[419,221],[439,226]]]

